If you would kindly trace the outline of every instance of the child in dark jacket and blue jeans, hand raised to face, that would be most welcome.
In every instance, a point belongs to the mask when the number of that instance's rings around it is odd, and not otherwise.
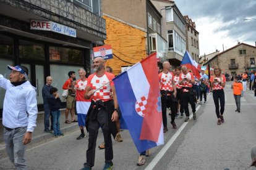
[[[51,95],[48,97],[49,107],[53,114],[53,130],[55,137],[64,136],[59,127],[59,117],[61,116],[61,111],[59,109],[61,108],[61,99],[59,99],[59,94],[57,92],[58,89],[56,87],[52,87],[50,89]]]

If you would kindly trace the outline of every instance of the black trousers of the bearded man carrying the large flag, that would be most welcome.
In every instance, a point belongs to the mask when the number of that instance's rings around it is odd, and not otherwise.
[[[96,140],[98,137],[98,129],[101,127],[103,130],[104,142],[105,142],[105,163],[113,164],[113,146],[111,133],[109,131],[108,115],[105,108],[101,108],[98,111],[96,119],[90,119],[88,122],[89,144],[86,152],[87,162],[84,163],[84,167],[93,167],[95,162],[95,148]]]

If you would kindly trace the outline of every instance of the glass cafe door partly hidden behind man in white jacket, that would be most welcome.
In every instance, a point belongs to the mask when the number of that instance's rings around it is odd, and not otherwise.
[[[28,68],[28,81],[36,87],[37,105],[43,104],[42,89],[45,85],[45,69],[43,65],[35,63],[21,63]]]

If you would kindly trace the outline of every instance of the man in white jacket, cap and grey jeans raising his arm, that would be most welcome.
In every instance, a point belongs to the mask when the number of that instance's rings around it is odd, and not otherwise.
[[[36,127],[38,113],[36,88],[29,81],[28,68],[9,66],[12,70],[9,79],[0,75],[0,87],[6,89],[2,124],[7,154],[16,169],[27,169],[25,163],[25,145],[31,142]]]

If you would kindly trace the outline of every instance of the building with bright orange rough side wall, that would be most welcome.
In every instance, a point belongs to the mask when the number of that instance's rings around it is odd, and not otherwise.
[[[149,0],[105,0],[103,16],[107,32],[104,42],[111,45],[114,54],[107,65],[115,75],[154,52],[163,60],[167,42],[161,37],[162,16]]]

